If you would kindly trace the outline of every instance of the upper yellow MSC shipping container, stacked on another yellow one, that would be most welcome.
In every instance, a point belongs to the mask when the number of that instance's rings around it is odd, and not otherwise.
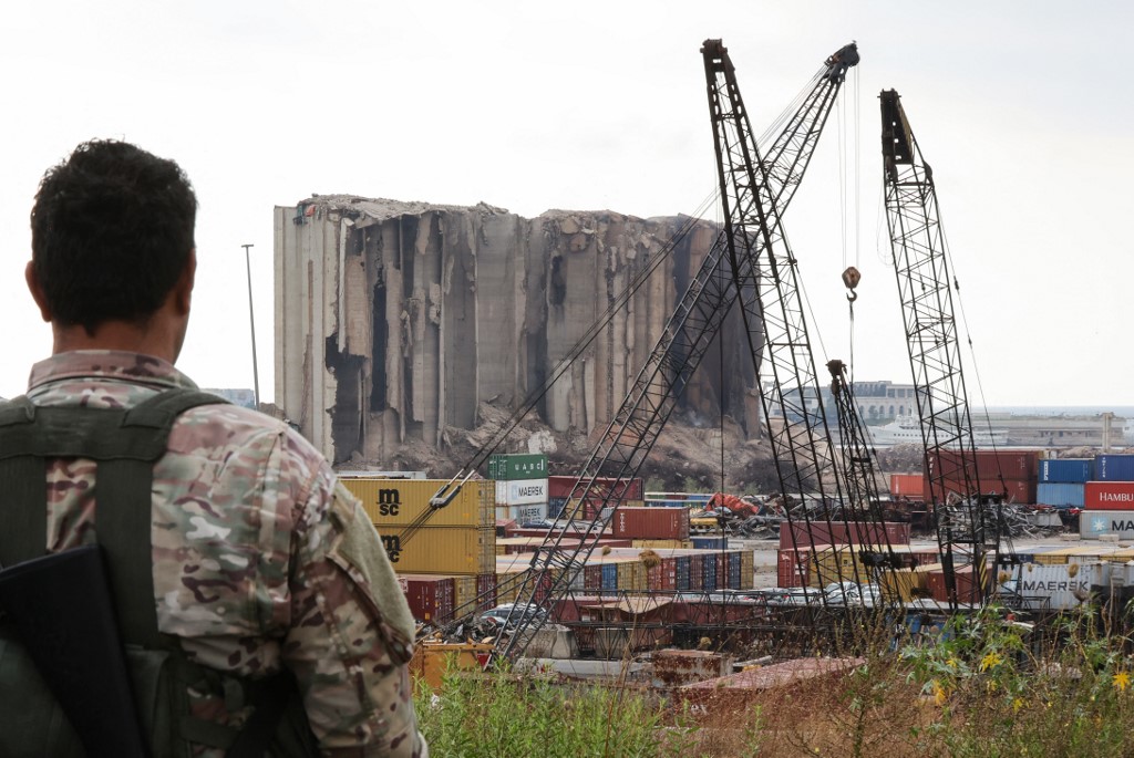
[[[426,512],[429,518],[424,523],[430,527],[496,528],[494,482],[466,482],[448,505],[433,510],[430,497],[448,484],[447,479],[379,479],[352,477],[349,472],[339,478],[362,501],[380,531],[409,526]]]

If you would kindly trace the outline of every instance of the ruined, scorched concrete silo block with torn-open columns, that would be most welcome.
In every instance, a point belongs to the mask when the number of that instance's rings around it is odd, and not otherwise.
[[[335,462],[380,462],[517,407],[663,255],[538,407],[591,432],[618,409],[719,230],[686,218],[475,207],[353,196],[276,208],[276,402]],[[686,391],[696,419],[759,420],[739,320]],[[723,387],[723,392],[721,389]]]

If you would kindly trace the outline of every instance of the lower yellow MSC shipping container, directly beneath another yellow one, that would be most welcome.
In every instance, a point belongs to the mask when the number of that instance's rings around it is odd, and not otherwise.
[[[465,574],[493,570],[494,528],[422,527],[405,540],[400,534],[381,534],[381,537],[398,573]]]

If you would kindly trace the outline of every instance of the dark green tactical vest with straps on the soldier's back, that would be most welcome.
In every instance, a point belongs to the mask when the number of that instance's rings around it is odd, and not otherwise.
[[[290,675],[253,681],[208,670],[188,661],[176,638],[158,631],[150,542],[153,466],[166,453],[169,431],[181,412],[221,402],[204,392],[168,390],[128,410],[36,408],[26,398],[0,403],[0,567],[45,553],[48,461],[95,460],[98,543],[151,755],[189,758],[196,743],[226,749],[229,758],[316,756]],[[195,718],[188,710],[188,687],[223,697],[229,710],[255,710],[239,730]],[[14,624],[2,615],[0,756],[84,756]]]

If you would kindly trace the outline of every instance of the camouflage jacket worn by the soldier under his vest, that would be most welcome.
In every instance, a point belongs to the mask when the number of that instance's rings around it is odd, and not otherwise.
[[[84,350],[36,364],[27,395],[128,408],[174,386],[195,387],[159,358]],[[49,551],[94,542],[96,497],[93,461],[50,465]],[[327,755],[428,756],[405,597],[358,502],[301,435],[235,406],[186,411],[154,467],[152,525],[158,627],[192,659],[253,678],[288,667]],[[197,715],[247,715],[191,697]]]

